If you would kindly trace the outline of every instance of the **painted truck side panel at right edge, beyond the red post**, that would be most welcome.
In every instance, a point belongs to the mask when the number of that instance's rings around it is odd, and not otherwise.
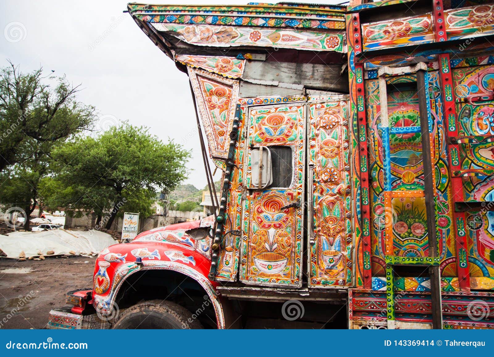
[[[458,149],[450,153],[453,162],[461,169],[472,170],[462,178],[462,200],[485,201],[486,207],[494,201],[494,177],[480,174],[494,170],[494,143],[486,140],[494,135],[494,68],[468,66],[452,70],[453,89],[456,96],[458,137],[476,136],[468,142],[465,138]],[[474,171],[477,170],[478,174]],[[472,283],[478,278],[494,278],[494,211],[482,209],[465,214],[464,230],[468,251],[459,256],[460,264],[468,267]],[[472,285],[473,287],[474,285]]]

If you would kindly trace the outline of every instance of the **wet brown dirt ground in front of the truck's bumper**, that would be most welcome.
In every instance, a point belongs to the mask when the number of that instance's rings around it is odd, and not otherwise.
[[[81,256],[0,258],[0,328],[44,328],[50,310],[65,305],[67,291],[92,286],[94,262]]]

